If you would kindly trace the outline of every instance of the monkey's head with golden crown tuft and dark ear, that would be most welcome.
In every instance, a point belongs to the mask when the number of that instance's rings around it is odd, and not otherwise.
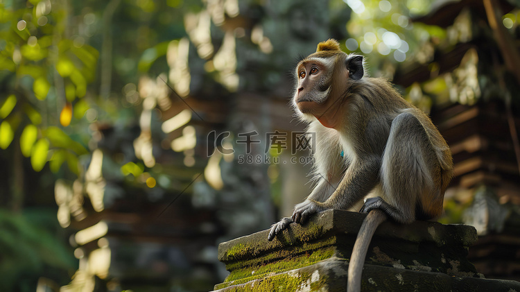
[[[347,89],[363,74],[363,56],[348,55],[333,39],[320,42],[316,52],[296,67],[293,104],[297,113],[306,121],[316,118],[324,126],[334,128]]]

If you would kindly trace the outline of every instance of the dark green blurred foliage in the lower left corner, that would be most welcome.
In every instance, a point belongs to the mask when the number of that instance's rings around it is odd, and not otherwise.
[[[64,235],[55,212],[31,209],[15,214],[0,209],[0,290],[34,291],[38,277],[67,281],[67,270],[76,260]]]

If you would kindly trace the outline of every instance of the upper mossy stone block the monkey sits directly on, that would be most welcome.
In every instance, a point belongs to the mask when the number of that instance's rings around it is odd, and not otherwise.
[[[274,274],[288,277],[290,273],[284,272],[326,259],[347,262],[365,216],[327,210],[305,225],[291,224],[271,242],[267,241],[268,230],[264,230],[220,243],[218,259],[231,273],[215,289],[259,281]],[[467,249],[476,239],[476,230],[467,225],[385,222],[376,230],[365,261],[400,270],[477,277],[474,266],[466,259]]]

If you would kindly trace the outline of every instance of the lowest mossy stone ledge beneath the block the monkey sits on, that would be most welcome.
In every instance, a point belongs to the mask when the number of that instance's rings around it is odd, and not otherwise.
[[[348,262],[331,258],[310,266],[267,275],[243,284],[227,286],[218,292],[238,291],[342,291],[347,287]],[[520,283],[479,277],[454,277],[444,273],[422,272],[366,264],[362,291],[520,291]]]

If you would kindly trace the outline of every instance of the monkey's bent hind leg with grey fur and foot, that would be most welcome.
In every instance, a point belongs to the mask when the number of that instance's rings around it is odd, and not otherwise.
[[[419,214],[438,213],[442,199],[435,186],[439,162],[421,123],[412,112],[403,112],[392,121],[381,160],[383,198],[365,202],[362,211],[381,209],[392,220],[411,223]],[[425,200],[426,199],[426,200]],[[428,202],[424,205],[425,202]]]

